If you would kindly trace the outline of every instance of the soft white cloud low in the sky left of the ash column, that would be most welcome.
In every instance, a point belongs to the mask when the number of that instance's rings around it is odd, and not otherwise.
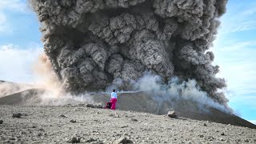
[[[32,66],[42,53],[42,48],[21,48],[12,44],[0,46],[0,80],[31,82]]]

